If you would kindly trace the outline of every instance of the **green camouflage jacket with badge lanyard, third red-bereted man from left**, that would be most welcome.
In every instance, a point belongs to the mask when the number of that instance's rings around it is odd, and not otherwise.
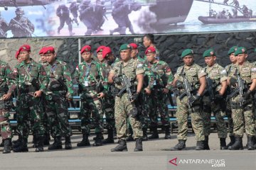
[[[75,81],[77,81],[83,89],[95,86],[97,82],[101,81],[104,88],[102,92],[107,93],[107,77],[104,77],[100,64],[93,60],[90,65],[85,61],[78,64],[75,69]]]

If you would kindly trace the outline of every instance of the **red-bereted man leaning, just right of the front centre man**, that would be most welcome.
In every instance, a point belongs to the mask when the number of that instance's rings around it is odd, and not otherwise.
[[[174,76],[171,73],[169,65],[161,60],[156,60],[156,49],[154,47],[148,47],[145,51],[146,60],[149,62],[149,68],[154,73],[154,83],[151,90],[151,100],[155,101],[154,105],[149,112],[151,119],[151,129],[153,134],[149,139],[158,139],[159,134],[157,132],[158,124],[158,112],[161,115],[161,123],[165,129],[165,139],[171,139],[170,135],[170,122],[168,107],[166,104],[167,94],[171,90],[171,83],[174,80]]]

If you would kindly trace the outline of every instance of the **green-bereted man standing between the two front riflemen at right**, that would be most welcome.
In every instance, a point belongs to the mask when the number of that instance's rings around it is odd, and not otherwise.
[[[216,118],[218,137],[220,138],[220,149],[227,149],[225,138],[228,135],[225,121],[223,119],[223,106],[225,108],[225,100],[223,98],[227,89],[227,72],[223,67],[215,62],[215,52],[210,49],[203,52],[203,57],[207,67],[203,68],[206,72],[207,88],[203,96],[203,118],[205,123],[206,149],[210,149],[208,145],[208,136],[210,135],[210,117],[211,113]]]

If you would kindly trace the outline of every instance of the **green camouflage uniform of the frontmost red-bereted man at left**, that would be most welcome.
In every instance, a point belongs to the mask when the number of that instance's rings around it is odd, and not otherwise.
[[[18,101],[20,102],[18,104],[20,107],[18,119],[21,125],[18,126],[18,130],[21,132],[26,146],[30,120],[33,134],[38,138],[44,136],[42,98],[34,98],[33,94],[38,90],[46,91],[49,80],[43,66],[33,59],[29,63],[17,64],[14,68],[14,75],[16,76],[16,86],[18,86]]]

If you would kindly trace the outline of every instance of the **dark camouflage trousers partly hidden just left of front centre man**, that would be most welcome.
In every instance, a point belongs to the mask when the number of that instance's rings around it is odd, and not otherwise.
[[[114,129],[114,97],[107,94],[102,102],[102,113],[106,116],[107,129]]]

